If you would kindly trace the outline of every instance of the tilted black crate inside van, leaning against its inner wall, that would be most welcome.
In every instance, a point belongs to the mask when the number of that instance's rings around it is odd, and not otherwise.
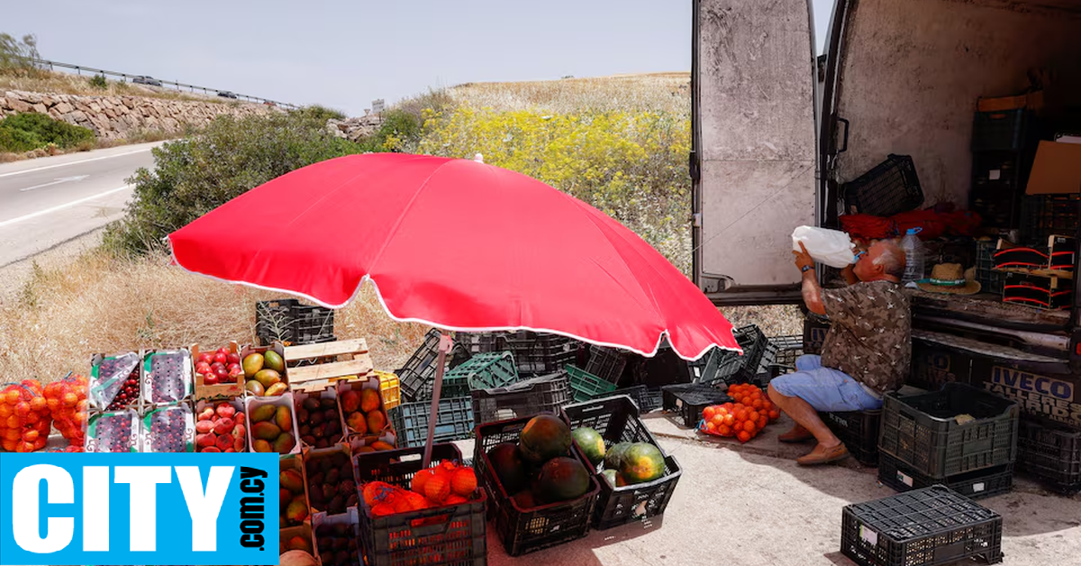
[[[875,169],[842,184],[841,195],[849,214],[892,216],[923,203],[916,164],[907,155],[890,154]]]

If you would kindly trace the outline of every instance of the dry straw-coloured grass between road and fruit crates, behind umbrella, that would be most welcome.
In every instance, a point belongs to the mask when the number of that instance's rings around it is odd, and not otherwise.
[[[276,297],[188,274],[164,256],[95,251],[63,267],[36,266],[17,298],[0,304],[0,381],[85,373],[94,353],[251,343],[255,301]],[[335,334],[368,339],[377,368],[397,368],[425,331],[387,317],[370,288],[335,316]]]

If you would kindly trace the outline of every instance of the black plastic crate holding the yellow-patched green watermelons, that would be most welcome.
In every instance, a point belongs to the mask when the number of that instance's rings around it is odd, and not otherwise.
[[[563,407],[563,416],[571,423],[571,429],[588,426],[597,431],[604,439],[605,449],[618,443],[649,443],[664,455],[664,449],[638,414],[638,407],[625,395]],[[650,518],[664,514],[681,474],[679,463],[668,455],[665,455],[665,474],[652,482],[614,487],[601,476],[603,471],[603,463],[595,469],[601,495],[597,501],[593,527],[599,530],[636,521],[646,522],[650,526]]]

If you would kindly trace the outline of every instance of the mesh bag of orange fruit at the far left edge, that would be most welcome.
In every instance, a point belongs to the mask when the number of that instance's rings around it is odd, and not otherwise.
[[[0,384],[0,446],[9,452],[45,447],[53,420],[44,390],[35,380]]]

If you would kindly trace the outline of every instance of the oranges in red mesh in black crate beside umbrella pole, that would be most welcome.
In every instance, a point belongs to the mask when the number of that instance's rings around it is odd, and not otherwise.
[[[360,491],[373,516],[393,515],[465,503],[477,491],[477,474],[472,468],[443,460],[439,465],[414,474],[410,489],[369,482]]]

